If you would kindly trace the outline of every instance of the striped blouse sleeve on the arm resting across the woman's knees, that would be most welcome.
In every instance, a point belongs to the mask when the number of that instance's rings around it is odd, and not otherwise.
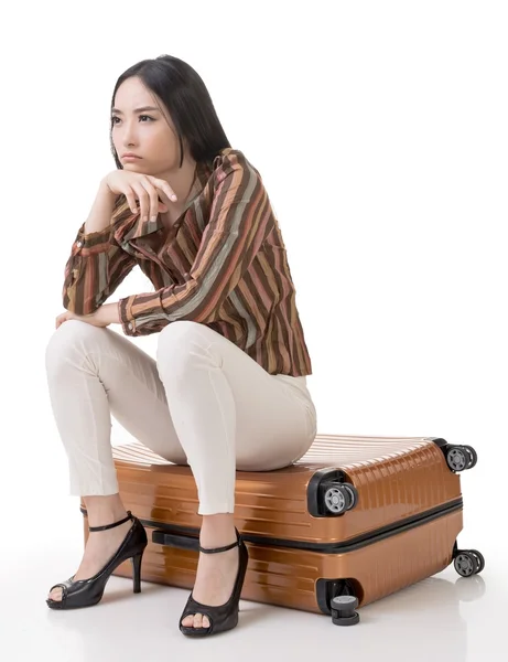
[[[176,320],[213,322],[272,229],[261,178],[241,153],[223,157],[213,182],[209,221],[185,282],[120,299],[127,335],[147,335]]]

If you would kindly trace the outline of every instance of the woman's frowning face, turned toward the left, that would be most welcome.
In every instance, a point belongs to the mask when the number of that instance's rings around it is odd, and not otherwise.
[[[111,136],[125,170],[163,177],[179,170],[180,142],[160,98],[138,77],[117,89],[111,111]],[[128,160],[126,152],[140,157]]]

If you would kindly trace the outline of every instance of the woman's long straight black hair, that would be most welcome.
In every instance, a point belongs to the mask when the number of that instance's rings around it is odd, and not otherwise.
[[[190,64],[172,55],[160,55],[154,60],[138,62],[118,78],[111,97],[111,109],[115,106],[117,89],[123,81],[132,76],[141,78],[165,105],[179,135],[180,168],[183,163],[184,139],[196,162],[210,162],[221,149],[231,147],[202,77]],[[121,169],[111,129],[112,122],[109,134],[111,153],[117,168]]]

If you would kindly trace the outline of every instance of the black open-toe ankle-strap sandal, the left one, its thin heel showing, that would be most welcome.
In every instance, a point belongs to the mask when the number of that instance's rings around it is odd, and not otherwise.
[[[143,525],[134,517],[134,515],[127,511],[127,517],[112,524],[106,524],[106,526],[90,526],[88,531],[107,531],[119,526],[125,522],[132,520],[132,526],[127,533],[123,542],[118,548],[117,553],[108,560],[101,570],[99,570],[94,577],[89,579],[78,579],[74,581],[73,577],[63,581],[62,584],[55,584],[50,589],[50,592],[54,588],[62,588],[62,600],[52,600],[47,598],[46,602],[51,609],[78,609],[79,607],[91,607],[100,602],[106,584],[115,568],[121,563],[131,559],[133,568],[133,592],[141,592],[141,560],[143,557],[144,547],[148,544],[147,532]]]

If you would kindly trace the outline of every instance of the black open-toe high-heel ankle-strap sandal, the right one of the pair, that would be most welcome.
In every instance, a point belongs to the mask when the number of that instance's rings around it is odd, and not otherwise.
[[[225,547],[216,547],[214,549],[205,549],[199,545],[199,552],[204,554],[219,554],[220,552],[227,552],[234,547],[238,547],[238,574],[235,579],[235,586],[233,588],[231,596],[227,602],[219,605],[218,607],[210,607],[209,605],[202,605],[197,602],[191,594],[188,597],[185,609],[180,618],[180,630],[188,637],[206,637],[208,634],[217,634],[218,632],[225,632],[231,630],[238,624],[238,604],[240,601],[240,594],[244,587],[245,575],[247,570],[247,564],[249,562],[249,553],[246,544],[240,537],[238,531],[236,531],[236,543],[226,545]],[[194,616],[195,613],[202,613],[209,620],[209,628],[188,628],[182,626],[182,621],[187,616]]]

